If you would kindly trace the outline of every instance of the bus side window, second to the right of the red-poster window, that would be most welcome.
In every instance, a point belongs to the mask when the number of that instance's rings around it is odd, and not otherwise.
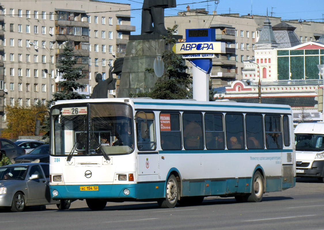
[[[223,115],[205,114],[205,141],[207,149],[224,149]]]

